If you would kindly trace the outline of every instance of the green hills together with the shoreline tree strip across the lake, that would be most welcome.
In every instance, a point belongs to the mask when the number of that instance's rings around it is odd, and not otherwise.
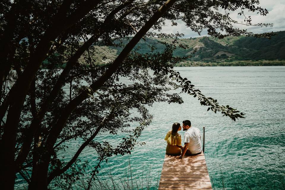
[[[183,49],[177,47],[173,55],[178,57],[187,57],[185,62],[177,64],[177,66],[276,66],[284,65],[285,61],[285,31],[275,32],[271,39],[255,38],[246,36],[228,36],[224,39],[214,37],[198,37],[179,39],[180,44],[186,45],[188,48]],[[102,44],[94,44],[90,49],[96,58],[93,59],[94,64],[105,65],[118,56],[123,50],[124,45],[129,42],[132,37],[121,38],[116,40],[116,47],[104,46]],[[165,49],[165,45],[161,42],[172,43],[173,39],[145,38],[134,47],[133,51],[138,53],[160,52]],[[194,53],[195,52],[195,53]],[[84,61],[87,53],[79,58],[82,64],[88,63]],[[48,64],[48,60],[44,61]],[[59,65],[64,67],[65,64]]]

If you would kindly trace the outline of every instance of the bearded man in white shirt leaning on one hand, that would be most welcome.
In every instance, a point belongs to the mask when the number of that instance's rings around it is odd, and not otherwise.
[[[189,120],[183,121],[184,146],[180,158],[185,155],[198,155],[201,154],[201,132],[197,127],[192,127]]]

